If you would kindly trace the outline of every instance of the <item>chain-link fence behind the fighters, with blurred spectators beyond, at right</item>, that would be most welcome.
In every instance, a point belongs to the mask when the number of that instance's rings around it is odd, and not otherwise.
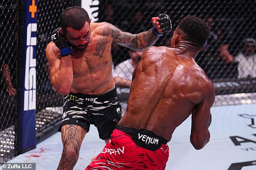
[[[151,17],[159,13],[170,16],[173,30],[187,15],[202,18],[211,33],[196,62],[213,81],[216,95],[225,96],[216,97],[215,105],[256,102],[256,1],[105,0],[99,6],[99,22],[131,33],[152,28]],[[155,46],[169,46],[172,34],[161,36]],[[113,44],[115,67],[130,58],[128,51]]]

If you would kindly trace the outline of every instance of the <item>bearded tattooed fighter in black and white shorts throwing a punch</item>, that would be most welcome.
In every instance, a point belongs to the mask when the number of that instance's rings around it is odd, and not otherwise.
[[[122,32],[114,25],[91,23],[81,7],[65,9],[60,26],[45,49],[50,79],[63,101],[63,151],[58,170],[72,170],[83,138],[93,124],[107,142],[121,119],[121,107],[111,74],[111,43],[142,51],[171,30],[166,14],[152,18],[153,28],[139,34]]]

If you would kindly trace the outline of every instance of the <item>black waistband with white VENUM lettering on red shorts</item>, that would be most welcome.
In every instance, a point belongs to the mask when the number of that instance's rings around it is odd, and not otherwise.
[[[132,136],[132,140],[137,146],[148,150],[157,150],[162,144],[167,144],[167,140],[157,136],[154,132],[145,129],[135,129],[116,125],[116,129],[121,130]]]

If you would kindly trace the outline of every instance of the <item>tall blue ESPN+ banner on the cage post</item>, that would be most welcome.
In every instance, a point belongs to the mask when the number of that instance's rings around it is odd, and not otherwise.
[[[21,76],[21,101],[19,105],[18,153],[36,147],[36,45],[37,0],[25,0],[23,6],[23,53]]]

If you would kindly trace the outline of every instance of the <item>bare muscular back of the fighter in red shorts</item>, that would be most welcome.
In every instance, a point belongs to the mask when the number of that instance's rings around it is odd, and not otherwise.
[[[186,50],[145,50],[119,125],[151,130],[170,140],[175,128],[193,111],[198,115],[210,112],[214,99],[207,99],[207,93],[214,93],[213,85],[194,59],[182,51]]]

